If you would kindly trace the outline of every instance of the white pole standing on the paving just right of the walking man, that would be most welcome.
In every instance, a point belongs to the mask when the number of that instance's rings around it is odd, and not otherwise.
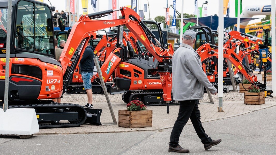
[[[223,98],[223,1],[219,0],[219,26],[218,26],[218,33],[219,33],[219,87],[218,87],[218,96],[219,96],[219,106],[218,111],[222,112],[222,98]]]

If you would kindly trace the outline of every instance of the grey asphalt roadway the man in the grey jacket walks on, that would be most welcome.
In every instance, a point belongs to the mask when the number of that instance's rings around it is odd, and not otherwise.
[[[204,122],[206,133],[219,145],[208,151],[192,125],[186,125],[179,144],[188,154],[276,154],[276,106],[240,116]],[[29,139],[0,137],[0,154],[179,154],[169,153],[172,128],[120,133],[34,135]]]

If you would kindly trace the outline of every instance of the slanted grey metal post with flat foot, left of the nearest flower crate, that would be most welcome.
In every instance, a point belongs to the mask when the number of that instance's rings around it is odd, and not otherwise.
[[[117,125],[115,114],[114,114],[114,111],[112,109],[112,105],[111,105],[111,102],[110,102],[110,99],[109,99],[109,96],[108,96],[108,93],[107,93],[107,90],[106,90],[106,87],[105,87],[105,83],[103,81],[102,71],[101,71],[101,68],[100,68],[100,65],[99,65],[99,62],[98,62],[97,58],[94,58],[94,63],[95,63],[95,66],[97,68],[97,71],[99,73],[99,79],[101,81],[101,84],[102,84],[102,87],[103,87],[103,92],[104,92],[104,95],[105,95],[105,98],[106,98],[106,101],[107,101],[107,105],[108,105],[110,114],[111,114],[112,119],[113,119],[113,123],[103,123],[103,125]]]

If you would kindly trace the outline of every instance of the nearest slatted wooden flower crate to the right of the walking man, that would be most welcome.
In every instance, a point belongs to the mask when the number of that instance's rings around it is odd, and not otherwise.
[[[246,105],[262,105],[264,104],[264,92],[260,93],[244,93],[244,104]]]

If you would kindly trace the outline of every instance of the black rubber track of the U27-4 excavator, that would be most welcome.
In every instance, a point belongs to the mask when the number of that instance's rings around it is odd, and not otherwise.
[[[84,124],[84,122],[86,120],[86,110],[83,108],[83,106],[80,106],[78,104],[57,103],[57,104],[11,105],[11,106],[9,106],[9,108],[34,108],[34,109],[40,109],[40,108],[43,108],[43,109],[44,108],[78,108],[79,110],[81,110],[81,114],[84,114],[82,116],[82,119],[79,122],[76,122],[76,123],[70,123],[70,122],[68,122],[68,123],[59,123],[57,125],[55,125],[53,123],[39,123],[39,129],[61,128],[61,127],[79,127],[80,125]]]

